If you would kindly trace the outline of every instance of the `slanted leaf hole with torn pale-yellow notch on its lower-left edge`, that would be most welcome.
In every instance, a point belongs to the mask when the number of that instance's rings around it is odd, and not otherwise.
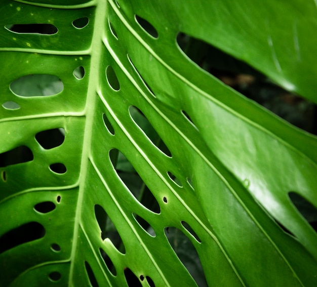
[[[99,204],[95,204],[95,216],[100,227],[101,239],[110,239],[115,248],[122,254],[125,254],[126,249],[120,234],[116,230],[110,217],[107,215],[103,207],[101,207]]]

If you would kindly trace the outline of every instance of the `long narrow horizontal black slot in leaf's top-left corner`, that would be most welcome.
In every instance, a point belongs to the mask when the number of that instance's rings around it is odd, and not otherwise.
[[[56,26],[52,24],[14,24],[6,25],[6,29],[11,32],[20,33],[20,34],[45,34],[53,35],[58,32]]]

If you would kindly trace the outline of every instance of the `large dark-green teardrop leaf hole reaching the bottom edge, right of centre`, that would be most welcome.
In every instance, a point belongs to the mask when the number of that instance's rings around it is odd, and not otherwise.
[[[194,245],[189,238],[175,227],[166,227],[165,235],[175,254],[199,286],[208,286],[205,273]]]

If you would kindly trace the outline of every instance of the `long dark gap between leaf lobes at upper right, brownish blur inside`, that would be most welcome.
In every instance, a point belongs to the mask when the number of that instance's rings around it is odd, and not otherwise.
[[[247,63],[203,40],[179,33],[177,44],[197,65],[294,126],[317,134],[317,106],[272,83]]]

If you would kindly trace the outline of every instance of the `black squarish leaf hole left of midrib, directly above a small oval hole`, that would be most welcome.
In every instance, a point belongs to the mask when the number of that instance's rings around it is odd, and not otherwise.
[[[59,128],[42,131],[35,135],[35,139],[45,149],[58,147],[64,142],[65,130]]]

